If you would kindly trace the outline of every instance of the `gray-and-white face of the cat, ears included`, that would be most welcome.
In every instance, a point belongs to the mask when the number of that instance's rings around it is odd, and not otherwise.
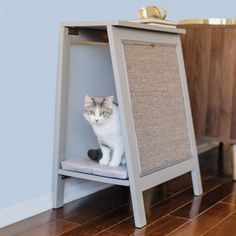
[[[92,124],[105,124],[113,113],[113,96],[85,96],[84,117]]]

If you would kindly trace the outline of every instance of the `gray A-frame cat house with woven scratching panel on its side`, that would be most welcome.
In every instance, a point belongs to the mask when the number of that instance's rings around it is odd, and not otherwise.
[[[129,186],[136,227],[146,224],[146,189],[191,172],[194,194],[202,194],[181,33],[127,21],[61,25],[54,208],[63,206],[63,176]],[[98,146],[82,115],[85,94],[117,98],[127,179],[62,169]]]

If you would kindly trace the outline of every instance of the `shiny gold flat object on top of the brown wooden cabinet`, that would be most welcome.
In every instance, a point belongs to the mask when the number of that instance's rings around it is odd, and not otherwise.
[[[236,25],[236,19],[209,18],[179,21],[180,25]]]

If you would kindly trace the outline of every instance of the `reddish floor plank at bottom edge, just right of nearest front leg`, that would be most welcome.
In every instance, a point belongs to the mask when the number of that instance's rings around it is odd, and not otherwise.
[[[134,233],[134,236],[163,236],[171,233],[176,228],[188,222],[188,220],[175,217],[175,216],[165,216],[160,220],[157,220],[155,223],[150,226],[146,226],[142,229],[137,229]]]

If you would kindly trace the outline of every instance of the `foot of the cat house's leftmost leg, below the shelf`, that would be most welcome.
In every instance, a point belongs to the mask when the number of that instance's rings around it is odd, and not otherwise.
[[[64,180],[62,175],[57,175],[53,183],[53,208],[57,209],[64,205]]]

